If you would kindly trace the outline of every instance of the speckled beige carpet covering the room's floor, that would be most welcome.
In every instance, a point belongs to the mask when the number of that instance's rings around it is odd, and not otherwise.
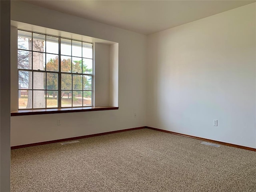
[[[12,192],[256,191],[256,152],[141,129],[11,151]]]

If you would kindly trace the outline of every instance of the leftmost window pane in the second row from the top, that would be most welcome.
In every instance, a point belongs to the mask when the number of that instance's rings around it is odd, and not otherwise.
[[[32,61],[31,51],[18,50],[18,68],[19,69],[31,69],[32,68],[31,61]]]

